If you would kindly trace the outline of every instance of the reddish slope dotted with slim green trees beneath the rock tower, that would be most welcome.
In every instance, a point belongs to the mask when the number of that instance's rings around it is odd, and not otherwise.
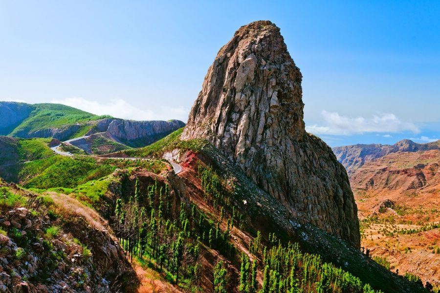
[[[393,277],[391,272],[386,272],[342,240],[313,226],[295,222],[283,205],[277,204],[276,199],[253,184],[240,169],[215,147],[206,144],[206,141],[181,141],[176,134],[164,141],[167,143],[156,143],[164,150],[170,150],[164,151],[164,154],[174,154],[176,159],[183,160],[181,164],[185,171],[179,174],[181,177],[174,172],[157,175],[149,171],[150,166],[136,166],[149,161],[136,163],[121,160],[120,164],[133,164],[133,167],[125,168],[121,165],[109,177],[92,180],[76,188],[51,189],[71,193],[71,196],[94,207],[109,219],[117,236],[123,239],[120,244],[126,251],[132,251],[134,261],[139,261],[147,268],[151,255],[150,267],[161,272],[161,282],[174,283],[178,278],[178,286],[183,290],[212,292],[215,287],[226,290],[216,292],[238,292],[243,275],[242,284],[249,286],[249,290],[252,286],[257,290],[264,286],[281,286],[281,292],[296,287],[304,292],[314,292],[318,288],[327,288],[329,292],[373,292],[365,284],[370,282],[375,289],[384,292],[423,292],[417,285]],[[182,148],[172,149],[175,146]],[[194,147],[192,151],[185,151],[191,147]],[[139,182],[137,187],[136,179]],[[51,181],[49,179],[46,182]],[[121,201],[120,213],[117,215],[115,210],[118,210],[118,199]],[[78,216],[67,216],[63,217],[62,225],[56,225],[62,226],[63,230],[75,229],[72,232],[74,237],[90,249],[94,256],[97,252],[91,246],[95,245],[95,240],[84,238],[86,233],[90,233],[89,228],[83,229],[77,220]],[[261,234],[257,231],[261,231]],[[84,233],[80,234],[83,238],[75,233]],[[10,235],[11,239],[15,237]],[[59,240],[65,244],[69,241]],[[289,246],[288,241],[298,242],[300,246]],[[143,252],[140,251],[141,246]],[[75,251],[83,248],[69,244],[67,247],[69,253],[72,251],[80,258],[83,257]],[[25,251],[34,253],[32,249],[26,248]],[[309,255],[306,251],[322,256]],[[242,257],[242,252],[250,257],[249,261],[247,256]],[[139,253],[143,255],[139,256]],[[64,258],[63,255],[60,257]],[[108,254],[103,257],[108,257]],[[290,260],[289,263],[277,260],[285,257]],[[76,261],[79,259],[78,256],[73,258]],[[253,278],[254,259],[257,277]],[[342,270],[324,263],[330,261]],[[90,261],[85,264],[90,264]],[[380,276],[379,280],[377,276]],[[28,286],[38,283],[35,279],[23,280],[21,273],[19,277],[21,279],[17,280]],[[93,284],[93,280],[84,274],[78,276],[78,280],[71,280],[68,276],[66,278],[54,275],[49,284],[60,280],[69,287],[76,286],[72,281],[85,282],[85,286]],[[125,280],[122,284],[131,282]],[[346,289],[350,291],[344,291]]]

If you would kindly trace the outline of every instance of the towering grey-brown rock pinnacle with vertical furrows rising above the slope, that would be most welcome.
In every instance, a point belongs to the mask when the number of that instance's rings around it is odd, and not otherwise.
[[[207,139],[292,216],[358,247],[347,173],[305,131],[301,80],[278,27],[242,26],[208,69],[181,138]]]

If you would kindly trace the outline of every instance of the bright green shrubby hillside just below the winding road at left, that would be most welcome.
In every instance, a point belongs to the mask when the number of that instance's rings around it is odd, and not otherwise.
[[[148,167],[160,173],[168,165],[158,160],[130,161],[89,156],[55,155],[51,139],[0,136],[0,176],[26,188],[75,188],[111,174],[116,168]]]

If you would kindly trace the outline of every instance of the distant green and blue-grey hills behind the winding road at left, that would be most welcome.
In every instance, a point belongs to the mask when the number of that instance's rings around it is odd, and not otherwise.
[[[146,146],[183,126],[185,123],[179,120],[124,120],[59,104],[0,102],[0,135],[59,141],[88,136],[72,143],[87,153]]]

